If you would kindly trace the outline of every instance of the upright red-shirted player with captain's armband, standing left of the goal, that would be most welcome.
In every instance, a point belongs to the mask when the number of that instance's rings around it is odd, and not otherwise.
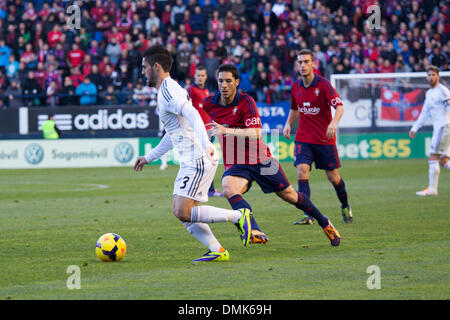
[[[299,119],[295,133],[294,165],[297,167],[298,189],[310,195],[309,174],[314,162],[316,169],[323,169],[328,180],[334,186],[341,202],[342,220],[353,221],[348,204],[344,180],[339,175],[339,156],[336,149],[336,131],[338,122],[344,113],[341,99],[330,82],[314,74],[314,55],[308,49],[297,54],[297,66],[301,79],[292,85],[291,110],[283,134],[290,139],[291,125]],[[331,108],[335,108],[334,118]],[[302,220],[296,224],[312,224],[314,220],[305,212]]]

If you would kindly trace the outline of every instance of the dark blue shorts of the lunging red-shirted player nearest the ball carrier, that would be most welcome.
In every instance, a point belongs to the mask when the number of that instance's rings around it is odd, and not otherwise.
[[[223,177],[238,176],[249,181],[248,188],[245,192],[250,190],[252,182],[255,181],[264,193],[272,193],[283,191],[290,186],[280,163],[271,158],[268,164],[235,164],[225,170]],[[244,192],[244,193],[245,193]]]

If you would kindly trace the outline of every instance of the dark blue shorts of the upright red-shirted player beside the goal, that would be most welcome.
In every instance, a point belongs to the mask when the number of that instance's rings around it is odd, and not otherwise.
[[[316,169],[333,170],[341,167],[336,145],[321,145],[295,141],[294,166],[312,163]]]

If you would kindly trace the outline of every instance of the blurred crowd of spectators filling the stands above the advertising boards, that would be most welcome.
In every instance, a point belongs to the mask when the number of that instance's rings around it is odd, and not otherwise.
[[[371,5],[381,9],[375,28]],[[327,78],[449,70],[448,13],[443,0],[1,0],[0,108],[149,104],[140,56],[155,43],[184,86],[202,64],[214,92],[216,68],[233,63],[240,89],[267,103],[289,99],[302,48]]]

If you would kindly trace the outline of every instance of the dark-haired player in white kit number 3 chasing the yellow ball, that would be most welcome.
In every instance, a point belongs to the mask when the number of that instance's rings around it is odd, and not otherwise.
[[[187,91],[170,77],[171,67],[172,57],[163,46],[154,45],[144,52],[142,74],[147,78],[147,84],[158,90],[158,113],[166,134],[149,154],[137,158],[134,170],[142,171],[146,163],[175,148],[179,154],[180,170],[174,183],[173,214],[209,249],[204,256],[193,261],[228,261],[228,251],[214,237],[208,223],[234,223],[246,246],[251,236],[250,210],[198,205],[208,201],[208,189],[219,159]]]

